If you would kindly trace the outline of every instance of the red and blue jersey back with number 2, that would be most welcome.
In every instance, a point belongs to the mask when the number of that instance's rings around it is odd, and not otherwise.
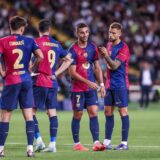
[[[6,77],[5,85],[31,81],[29,62],[31,54],[38,49],[32,38],[13,34],[0,39],[0,53],[2,53]]]

